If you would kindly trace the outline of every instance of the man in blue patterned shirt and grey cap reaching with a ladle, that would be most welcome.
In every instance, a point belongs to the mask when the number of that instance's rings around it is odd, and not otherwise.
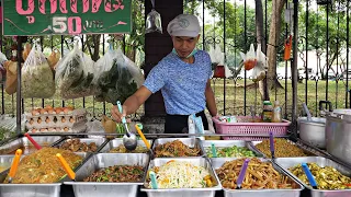
[[[208,129],[205,107],[212,116],[217,115],[214,93],[211,89],[211,58],[197,50],[200,24],[195,15],[180,14],[167,27],[173,50],[155,66],[145,83],[123,103],[123,113],[113,106],[112,116],[121,121],[123,116],[135,113],[145,101],[161,90],[167,112],[165,132],[188,132],[189,115],[202,117],[204,129]]]

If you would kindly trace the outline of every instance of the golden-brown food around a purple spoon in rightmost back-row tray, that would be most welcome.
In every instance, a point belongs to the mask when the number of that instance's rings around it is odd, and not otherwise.
[[[256,146],[268,158],[272,158],[270,150],[270,140],[263,140]],[[274,138],[274,151],[276,158],[297,158],[306,157],[304,150],[299,149],[286,139]]]

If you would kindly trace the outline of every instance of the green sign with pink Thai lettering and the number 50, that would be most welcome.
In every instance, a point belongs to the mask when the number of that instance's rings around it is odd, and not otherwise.
[[[131,32],[132,0],[3,1],[4,35]]]

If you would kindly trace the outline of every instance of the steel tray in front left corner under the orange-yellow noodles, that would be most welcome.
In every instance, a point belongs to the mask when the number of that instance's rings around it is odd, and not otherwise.
[[[84,160],[89,159],[88,153],[77,153],[83,157]],[[22,157],[21,159],[23,159]],[[75,172],[80,166],[76,167]],[[8,176],[9,170],[0,173],[0,196],[1,197],[60,197],[60,186],[65,179],[69,179],[66,176],[60,178],[57,183],[50,184],[2,184]]]

